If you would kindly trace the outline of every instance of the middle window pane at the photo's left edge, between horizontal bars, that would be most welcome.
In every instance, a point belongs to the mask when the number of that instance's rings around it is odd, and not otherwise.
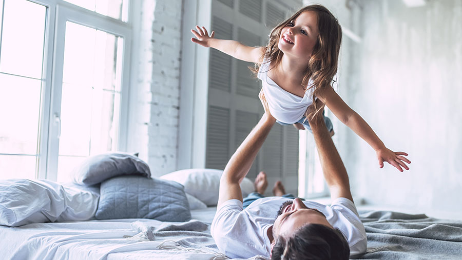
[[[36,154],[40,90],[38,79],[0,73],[0,153]]]

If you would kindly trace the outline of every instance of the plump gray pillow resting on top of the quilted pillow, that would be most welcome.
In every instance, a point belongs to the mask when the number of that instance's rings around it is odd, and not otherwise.
[[[131,174],[150,177],[151,171],[142,159],[122,152],[90,156],[72,172],[73,182],[80,185],[99,184],[111,177]]]

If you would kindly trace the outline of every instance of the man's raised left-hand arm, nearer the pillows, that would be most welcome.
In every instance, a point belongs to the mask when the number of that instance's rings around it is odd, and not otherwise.
[[[262,91],[260,91],[259,97],[265,113],[226,164],[226,168],[220,179],[218,207],[229,199],[239,199],[242,201],[242,191],[239,184],[252,167],[252,163],[266,136],[268,136],[269,130],[271,130],[276,122],[276,119],[269,113],[268,105]]]

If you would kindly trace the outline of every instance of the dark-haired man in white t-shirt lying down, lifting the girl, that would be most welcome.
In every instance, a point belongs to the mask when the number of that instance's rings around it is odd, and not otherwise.
[[[233,258],[262,255],[297,260],[349,259],[350,255],[365,253],[367,238],[353,203],[348,174],[322,116],[309,123],[331,192],[331,206],[275,196],[253,197],[254,202],[243,208],[239,183],[276,122],[262,92],[259,97],[265,113],[229,159],[220,180],[217,213],[210,228],[220,251]]]

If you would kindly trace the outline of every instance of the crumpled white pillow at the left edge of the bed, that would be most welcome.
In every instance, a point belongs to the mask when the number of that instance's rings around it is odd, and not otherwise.
[[[0,181],[0,225],[86,221],[94,216],[99,195],[47,180]]]

